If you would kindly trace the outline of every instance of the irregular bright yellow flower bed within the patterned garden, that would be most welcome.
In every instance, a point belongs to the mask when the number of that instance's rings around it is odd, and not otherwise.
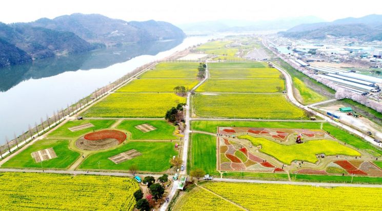
[[[361,154],[348,146],[341,145],[331,140],[310,140],[300,144],[282,145],[265,138],[255,138],[249,135],[239,136],[247,139],[253,145],[262,145],[260,152],[270,155],[277,160],[290,164],[294,160],[304,160],[315,163],[318,159],[316,154],[360,156]]]

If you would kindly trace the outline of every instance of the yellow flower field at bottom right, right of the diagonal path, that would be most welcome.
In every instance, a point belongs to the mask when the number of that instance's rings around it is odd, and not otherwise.
[[[381,193],[380,188],[230,182],[208,182],[203,186],[249,210],[380,210],[381,205],[373,199]],[[304,200],[292,200],[301,193]],[[205,203],[208,208],[209,200]]]

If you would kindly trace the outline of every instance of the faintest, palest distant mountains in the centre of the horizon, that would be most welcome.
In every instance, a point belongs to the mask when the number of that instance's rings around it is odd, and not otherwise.
[[[248,32],[285,30],[299,24],[318,23],[324,20],[315,16],[288,17],[274,20],[215,20],[210,22],[198,22],[177,25],[185,32]]]

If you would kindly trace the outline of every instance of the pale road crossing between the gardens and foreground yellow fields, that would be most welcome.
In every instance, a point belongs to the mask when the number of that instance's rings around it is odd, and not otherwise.
[[[43,173],[42,170],[30,169],[13,169],[13,168],[0,168],[0,172],[29,172],[29,173]],[[72,175],[103,175],[103,176],[119,176],[119,177],[132,177],[130,173],[120,172],[92,172],[89,171],[66,171],[66,170],[44,170],[44,173],[54,174],[72,174]],[[139,176],[162,176],[162,174],[139,174]],[[171,175],[170,175],[171,176]],[[248,182],[248,183],[266,183],[266,184],[293,184],[293,185],[314,185],[314,186],[331,186],[331,187],[378,187],[382,188],[379,184],[352,184],[352,183],[323,183],[323,182],[292,182],[292,181],[272,181],[272,180],[248,180],[248,179],[227,179],[227,178],[214,178],[214,181],[223,182]]]

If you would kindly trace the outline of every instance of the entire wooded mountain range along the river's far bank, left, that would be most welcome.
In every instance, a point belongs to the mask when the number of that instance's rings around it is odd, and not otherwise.
[[[185,36],[181,29],[167,22],[126,22],[99,14],[75,13],[30,23],[0,23],[0,67],[96,48]]]

